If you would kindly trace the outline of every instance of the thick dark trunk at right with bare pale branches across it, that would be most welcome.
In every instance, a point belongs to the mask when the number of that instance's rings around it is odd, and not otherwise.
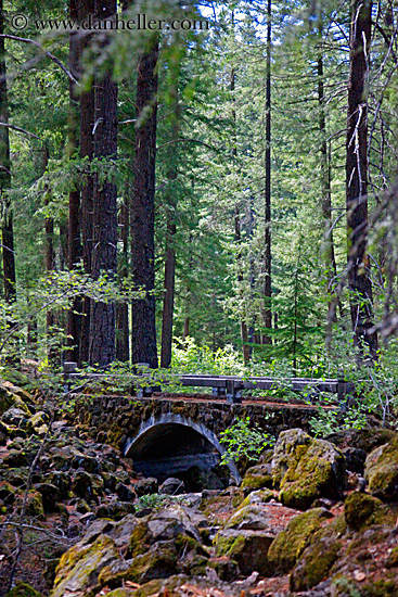
[[[347,113],[346,206],[348,284],[354,339],[372,358],[377,351],[373,327],[368,241],[368,86],[372,0],[352,0]]]

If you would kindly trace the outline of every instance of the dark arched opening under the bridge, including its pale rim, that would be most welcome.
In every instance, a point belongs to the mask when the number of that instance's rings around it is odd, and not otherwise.
[[[124,452],[133,460],[138,472],[163,482],[168,477],[183,479],[187,471],[194,468],[206,472],[215,467],[219,470],[224,448],[203,424],[169,414],[142,423],[138,434],[127,441]],[[229,474],[239,482],[241,478],[234,462],[228,468]]]

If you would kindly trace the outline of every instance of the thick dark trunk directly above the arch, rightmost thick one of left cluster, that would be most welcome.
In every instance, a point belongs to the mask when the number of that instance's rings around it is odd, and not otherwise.
[[[134,193],[131,259],[134,285],[145,292],[132,302],[132,363],[157,367],[155,321],[155,160],[158,40],[139,59],[137,79]]]

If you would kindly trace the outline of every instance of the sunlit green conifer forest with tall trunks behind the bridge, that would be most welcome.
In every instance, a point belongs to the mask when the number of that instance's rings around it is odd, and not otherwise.
[[[395,383],[393,0],[0,8],[5,368]],[[209,26],[36,26],[116,11]]]

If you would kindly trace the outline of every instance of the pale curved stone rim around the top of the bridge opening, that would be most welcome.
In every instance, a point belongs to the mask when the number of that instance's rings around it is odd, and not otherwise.
[[[182,415],[166,412],[159,415],[158,417],[152,416],[146,421],[143,421],[138,430],[138,433],[133,437],[129,437],[126,441],[124,455],[134,459],[134,454],[140,450],[140,446],[143,446],[145,442],[147,445],[150,444],[151,434],[157,434],[158,440],[162,431],[170,430],[171,427],[175,427],[176,429],[178,429],[178,427],[189,428],[192,434],[197,434],[204,439],[205,442],[213,446],[213,448],[215,448],[220,456],[226,454],[226,448],[220,444],[217,435],[203,423],[196,422]],[[240,483],[241,475],[237,471],[236,465],[233,461],[230,461],[228,463],[228,468],[230,469],[232,478],[236,481],[236,483]]]

